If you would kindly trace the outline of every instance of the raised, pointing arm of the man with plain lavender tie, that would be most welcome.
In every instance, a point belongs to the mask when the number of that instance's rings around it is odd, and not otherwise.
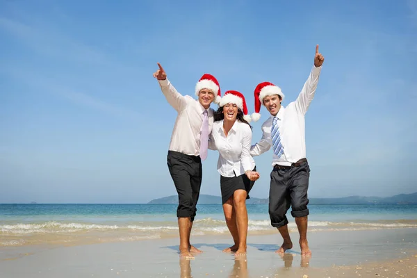
[[[167,79],[167,74],[160,63],[158,63],[158,67],[159,70],[154,72],[154,77],[158,79],[163,95],[175,110],[178,112],[183,110],[183,108],[186,107],[186,98],[177,92],[171,82]]]

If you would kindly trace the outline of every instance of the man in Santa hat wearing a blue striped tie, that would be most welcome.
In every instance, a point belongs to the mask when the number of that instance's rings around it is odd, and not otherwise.
[[[284,253],[293,247],[288,233],[288,220],[286,213],[290,206],[291,215],[295,218],[300,233],[300,247],[302,256],[311,255],[307,241],[307,218],[309,215],[309,188],[310,167],[306,160],[305,121],[306,114],[313,100],[318,79],[325,58],[318,52],[309,78],[297,99],[286,108],[281,106],[284,94],[276,85],[263,82],[255,89],[255,113],[254,121],[259,120],[259,111],[263,104],[270,112],[270,117],[262,124],[263,136],[261,140],[251,147],[250,154],[258,156],[268,151],[270,147],[272,155],[269,215],[272,227],[276,227],[284,239],[278,253]]]

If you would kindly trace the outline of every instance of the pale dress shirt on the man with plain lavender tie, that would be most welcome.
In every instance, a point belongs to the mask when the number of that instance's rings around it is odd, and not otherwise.
[[[183,96],[168,79],[158,80],[168,103],[178,112],[172,131],[170,151],[181,152],[190,156],[199,156],[203,113],[206,110],[198,100],[188,95]],[[208,112],[208,133],[213,128],[212,108]]]

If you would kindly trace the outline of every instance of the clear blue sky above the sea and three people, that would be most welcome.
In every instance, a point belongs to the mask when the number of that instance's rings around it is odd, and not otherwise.
[[[281,87],[284,106],[295,100],[316,44],[309,196],[417,191],[417,1],[289,2],[0,1],[0,202],[174,195],[176,113],[156,62],[183,95],[208,72],[252,113],[262,81]],[[253,197],[268,196],[271,158],[256,157]],[[217,159],[204,162],[202,194],[220,195]]]

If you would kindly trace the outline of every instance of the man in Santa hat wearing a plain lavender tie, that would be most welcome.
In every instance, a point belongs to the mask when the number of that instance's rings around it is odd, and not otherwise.
[[[181,257],[192,258],[192,252],[201,252],[190,244],[190,234],[196,215],[196,205],[202,184],[202,161],[207,157],[208,136],[213,127],[213,109],[210,104],[220,101],[220,86],[211,74],[204,74],[195,86],[198,100],[177,92],[158,63],[154,73],[168,103],[178,112],[172,131],[167,165],[177,189],[179,205],[179,252]]]

